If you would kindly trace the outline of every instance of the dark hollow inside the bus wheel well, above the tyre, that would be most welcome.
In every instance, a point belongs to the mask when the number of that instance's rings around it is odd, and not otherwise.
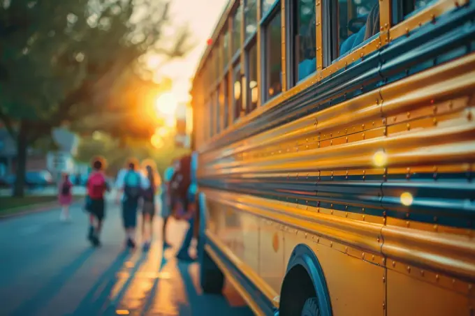
[[[316,297],[314,283],[304,266],[297,264],[286,273],[280,297],[279,316],[299,316],[305,301]]]

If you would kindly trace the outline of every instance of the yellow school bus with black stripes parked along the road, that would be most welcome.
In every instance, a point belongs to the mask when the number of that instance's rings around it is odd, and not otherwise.
[[[205,292],[474,315],[474,21],[469,0],[228,3],[192,89]]]

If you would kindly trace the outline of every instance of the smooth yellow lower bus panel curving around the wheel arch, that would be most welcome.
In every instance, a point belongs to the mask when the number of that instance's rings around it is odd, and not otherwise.
[[[363,253],[355,248],[345,250],[345,246],[321,237],[287,230],[284,233],[286,262],[299,243],[307,244],[319,259],[334,316],[385,315],[386,269],[373,263],[382,259],[379,255],[365,253],[363,259]]]

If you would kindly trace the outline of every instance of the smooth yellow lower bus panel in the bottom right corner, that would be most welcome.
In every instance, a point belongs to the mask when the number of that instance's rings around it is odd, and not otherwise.
[[[473,314],[467,296],[388,269],[388,316],[400,315]]]

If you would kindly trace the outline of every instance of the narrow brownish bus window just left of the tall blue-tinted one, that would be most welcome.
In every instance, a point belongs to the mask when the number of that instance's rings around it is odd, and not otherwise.
[[[264,24],[265,100],[282,92],[282,35],[280,8]]]

